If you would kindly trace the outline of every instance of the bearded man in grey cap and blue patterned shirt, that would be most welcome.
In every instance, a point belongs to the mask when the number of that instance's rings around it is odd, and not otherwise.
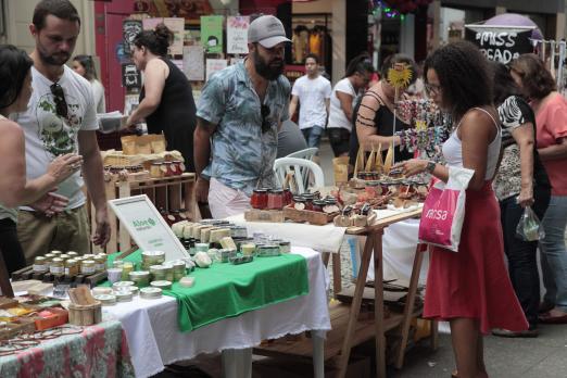
[[[249,209],[254,188],[275,187],[278,129],[288,119],[290,97],[281,75],[288,42],[278,18],[255,18],[248,29],[248,58],[213,75],[201,92],[194,131],[197,200],[209,200],[215,218]]]

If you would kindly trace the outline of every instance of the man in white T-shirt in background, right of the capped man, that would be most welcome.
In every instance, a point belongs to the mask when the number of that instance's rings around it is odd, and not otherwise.
[[[331,85],[319,74],[319,59],[315,54],[305,58],[306,75],[293,84],[289,117],[291,118],[300,104],[299,127],[307,146],[319,147],[320,136],[327,124]]]

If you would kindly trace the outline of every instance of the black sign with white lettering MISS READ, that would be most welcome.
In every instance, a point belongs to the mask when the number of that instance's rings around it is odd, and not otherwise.
[[[509,63],[524,53],[533,52],[533,26],[465,25],[465,39],[479,47],[491,61]]]

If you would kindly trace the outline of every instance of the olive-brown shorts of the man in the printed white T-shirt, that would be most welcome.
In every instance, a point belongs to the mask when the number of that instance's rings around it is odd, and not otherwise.
[[[26,263],[53,250],[90,253],[90,227],[86,205],[65,211],[53,217],[21,210],[17,215],[17,238]]]

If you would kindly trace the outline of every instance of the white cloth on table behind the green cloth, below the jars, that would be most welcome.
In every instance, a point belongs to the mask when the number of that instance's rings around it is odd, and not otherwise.
[[[293,245],[311,248],[318,252],[338,253],[345,231],[344,227],[336,227],[332,223],[325,226],[314,226],[293,222],[247,222],[244,214],[230,216],[227,220],[239,226],[245,226],[249,236],[254,232],[264,232],[290,240]]]

